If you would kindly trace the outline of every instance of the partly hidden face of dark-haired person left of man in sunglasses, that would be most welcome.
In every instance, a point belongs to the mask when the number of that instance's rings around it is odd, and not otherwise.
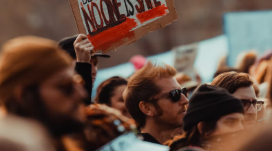
[[[117,86],[114,89],[113,95],[110,98],[111,101],[111,107],[117,109],[118,111],[121,111],[123,115],[126,117],[131,118],[129,115],[127,108],[125,107],[124,99],[123,99],[123,92],[125,91],[125,88],[127,85],[123,84],[121,86]]]

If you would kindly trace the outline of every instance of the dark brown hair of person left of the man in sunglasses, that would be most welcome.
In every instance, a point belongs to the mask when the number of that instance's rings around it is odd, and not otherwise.
[[[111,98],[114,95],[114,91],[116,87],[122,85],[127,85],[127,80],[122,77],[115,76],[105,80],[98,86],[94,102],[98,104],[106,104],[107,106],[112,106]]]

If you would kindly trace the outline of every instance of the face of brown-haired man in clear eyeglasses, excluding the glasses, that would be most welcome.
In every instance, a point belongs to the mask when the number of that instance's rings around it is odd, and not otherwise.
[[[237,89],[236,92],[233,93],[233,96],[237,97],[240,100],[247,100],[250,102],[257,100],[253,86]],[[244,109],[244,128],[253,128],[257,119],[257,111],[255,111],[255,106],[251,104],[248,109],[247,106],[244,106]]]

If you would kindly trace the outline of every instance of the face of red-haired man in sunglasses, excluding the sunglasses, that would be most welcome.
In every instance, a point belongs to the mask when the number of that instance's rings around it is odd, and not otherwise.
[[[178,84],[174,77],[156,80],[156,85],[161,90],[160,94],[181,89],[180,84]],[[158,98],[156,101],[157,106],[155,106],[155,122],[161,126],[165,125],[166,128],[178,128],[182,126],[182,119],[187,111],[188,103],[187,97],[182,94],[178,102],[173,102],[169,94]]]

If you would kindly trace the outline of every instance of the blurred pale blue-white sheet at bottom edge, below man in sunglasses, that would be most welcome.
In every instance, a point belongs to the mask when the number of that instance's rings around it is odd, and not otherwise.
[[[117,137],[110,141],[105,146],[96,151],[168,151],[169,147],[158,145],[156,143],[149,143],[138,139],[134,133],[127,132],[124,135]]]

